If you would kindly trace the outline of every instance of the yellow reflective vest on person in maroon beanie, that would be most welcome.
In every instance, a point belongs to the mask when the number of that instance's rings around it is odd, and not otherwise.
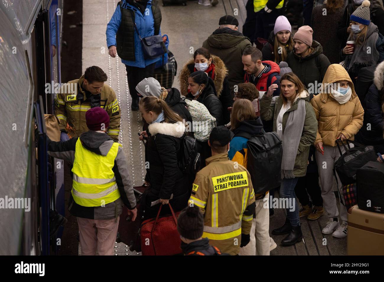
[[[120,192],[112,171],[118,154],[118,143],[113,143],[107,156],[101,156],[76,141],[73,163],[73,200],[83,207],[100,207],[120,198]]]

